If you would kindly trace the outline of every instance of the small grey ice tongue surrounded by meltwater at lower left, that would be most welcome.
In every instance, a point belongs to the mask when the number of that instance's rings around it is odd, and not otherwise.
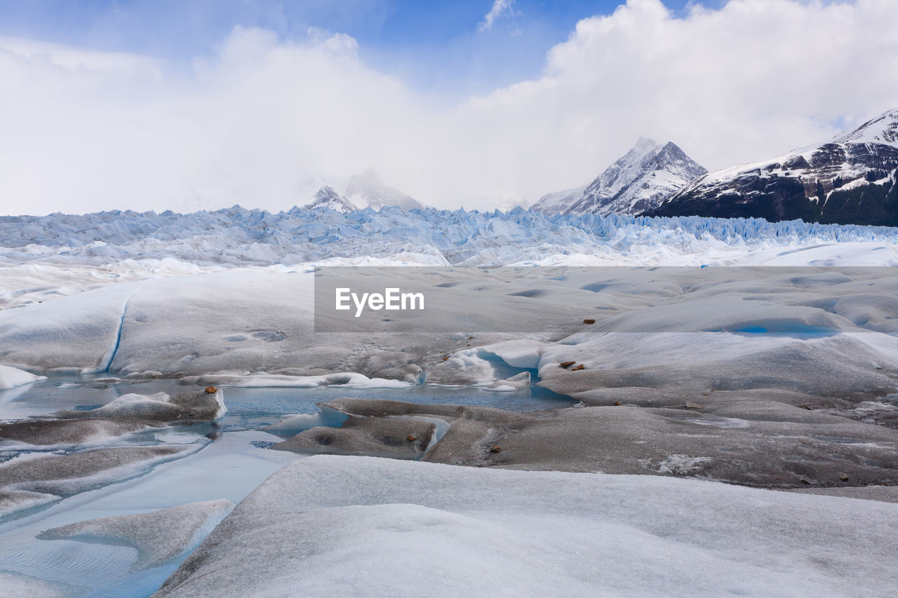
[[[55,527],[38,535],[40,540],[84,540],[126,544],[138,551],[132,570],[163,564],[196,548],[208,532],[233,509],[227,499],[172,506],[141,514],[101,517]]]

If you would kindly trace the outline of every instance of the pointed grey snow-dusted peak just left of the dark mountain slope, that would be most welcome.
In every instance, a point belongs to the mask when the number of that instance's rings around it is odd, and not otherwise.
[[[653,209],[708,172],[682,149],[640,137],[636,145],[585,188],[543,196],[533,209],[562,214],[632,214]]]

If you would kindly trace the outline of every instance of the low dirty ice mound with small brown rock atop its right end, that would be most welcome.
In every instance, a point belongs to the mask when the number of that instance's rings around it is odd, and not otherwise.
[[[211,392],[210,392],[211,391]],[[135,418],[164,422],[216,421],[225,417],[224,393],[208,387],[206,391],[184,392],[170,397],[155,394],[128,393],[109,403],[86,411],[57,411],[60,418]]]

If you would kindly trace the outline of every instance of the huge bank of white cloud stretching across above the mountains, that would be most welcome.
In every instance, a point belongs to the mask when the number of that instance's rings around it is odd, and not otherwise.
[[[449,108],[345,35],[236,29],[189,74],[0,40],[0,214],[303,203],[373,166],[439,207],[591,180],[638,136],[718,168],[898,107],[898,3],[732,0],[674,19],[629,0],[577,23],[543,75]]]

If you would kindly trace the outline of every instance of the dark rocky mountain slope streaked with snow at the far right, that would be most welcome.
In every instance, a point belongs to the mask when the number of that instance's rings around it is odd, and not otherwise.
[[[651,215],[898,225],[898,110],[822,145],[711,172]]]

